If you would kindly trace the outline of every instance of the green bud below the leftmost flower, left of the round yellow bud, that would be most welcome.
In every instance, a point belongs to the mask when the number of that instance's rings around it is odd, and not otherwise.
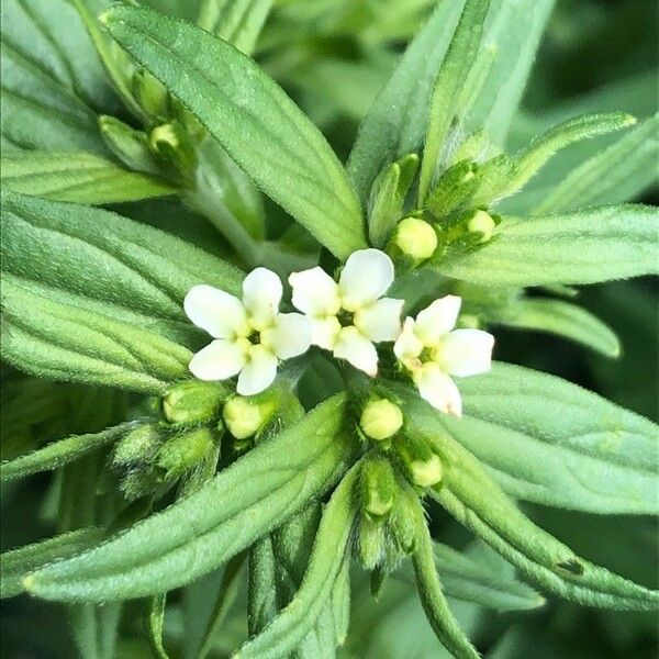
[[[167,390],[163,396],[163,414],[170,423],[211,421],[226,398],[226,389],[217,382],[186,380]]]

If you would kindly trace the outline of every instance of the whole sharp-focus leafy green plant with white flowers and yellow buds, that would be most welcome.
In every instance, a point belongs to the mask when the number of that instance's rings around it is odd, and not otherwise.
[[[222,570],[204,657],[246,566],[236,656],[325,657],[349,637],[359,566],[377,597],[411,565],[439,641],[477,657],[445,591],[481,601],[461,580],[496,580],[433,537],[438,504],[543,593],[656,610],[657,592],[580,558],[516,500],[656,514],[657,428],[491,365],[496,325],[617,356],[599,320],[527,288],[657,272],[656,210],[602,205],[602,181],[639,166],[619,153],[656,121],[590,114],[503,148],[551,2],[439,1],[345,168],[249,57],[271,2],[206,1],[200,26],[54,4],[70,32],[37,2],[3,8],[2,355],[40,378],[24,400],[66,399],[82,421],[2,465],[3,481],[57,471],[60,532],[2,556],[3,596],[68,603],[74,626],[100,616],[98,655],[78,639],[89,657],[112,656],[138,599],[166,657],[168,593]],[[557,152],[614,131],[533,209],[510,210]],[[299,224],[272,237],[259,190]],[[92,208],[165,194],[219,230],[225,259]]]

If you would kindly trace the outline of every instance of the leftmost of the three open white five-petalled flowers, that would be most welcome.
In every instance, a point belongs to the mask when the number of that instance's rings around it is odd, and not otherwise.
[[[281,281],[256,268],[243,281],[243,301],[212,286],[193,287],[183,308],[188,317],[215,338],[197,353],[190,371],[200,380],[226,380],[237,373],[236,391],[253,395],[267,389],[280,359],[311,345],[311,323],[299,313],[279,313]]]

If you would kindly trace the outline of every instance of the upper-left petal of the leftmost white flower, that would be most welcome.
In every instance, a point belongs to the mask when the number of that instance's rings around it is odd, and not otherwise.
[[[187,316],[215,338],[245,336],[247,313],[235,297],[205,283],[193,286],[183,301]]]

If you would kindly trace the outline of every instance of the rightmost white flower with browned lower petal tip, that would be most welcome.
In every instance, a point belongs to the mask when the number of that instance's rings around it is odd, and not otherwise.
[[[393,346],[421,396],[456,416],[462,414],[462,400],[450,376],[463,378],[489,371],[494,347],[494,337],[488,332],[454,330],[460,304],[460,298],[446,295],[420,312],[416,320],[406,317]]]

